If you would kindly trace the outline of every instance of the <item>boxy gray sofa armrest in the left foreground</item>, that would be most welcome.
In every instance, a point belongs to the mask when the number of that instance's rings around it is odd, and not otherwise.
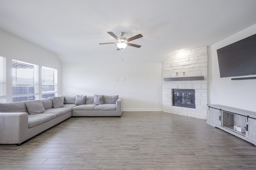
[[[0,144],[20,144],[28,139],[28,113],[0,113]]]

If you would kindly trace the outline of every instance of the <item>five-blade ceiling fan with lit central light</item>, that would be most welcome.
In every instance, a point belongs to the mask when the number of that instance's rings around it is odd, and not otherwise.
[[[121,49],[124,49],[125,47],[127,47],[127,45],[132,46],[132,47],[137,47],[137,48],[141,47],[141,45],[136,45],[136,44],[128,43],[128,42],[130,42],[130,41],[132,41],[134,39],[138,39],[138,38],[143,37],[141,34],[135,35],[135,36],[130,37],[130,38],[127,39],[126,37],[123,37],[124,32],[120,32],[121,37],[116,36],[112,32],[107,32],[107,33],[109,33],[112,37],[114,37],[116,39],[116,43],[99,43],[100,45],[102,45],[102,44],[116,44],[117,51],[121,50]]]

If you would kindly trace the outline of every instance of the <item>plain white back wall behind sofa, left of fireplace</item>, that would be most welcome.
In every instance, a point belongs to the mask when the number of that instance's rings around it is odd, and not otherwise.
[[[119,95],[123,111],[162,110],[161,63],[62,64],[62,94]]]

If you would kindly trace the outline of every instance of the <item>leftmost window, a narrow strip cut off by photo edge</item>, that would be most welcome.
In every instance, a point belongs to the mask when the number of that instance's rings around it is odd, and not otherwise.
[[[0,56],[0,103],[6,102],[6,58]]]

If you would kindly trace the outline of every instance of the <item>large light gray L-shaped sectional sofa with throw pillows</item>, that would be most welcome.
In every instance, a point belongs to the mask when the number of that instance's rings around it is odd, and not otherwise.
[[[121,115],[122,98],[118,98],[118,95],[66,95],[0,103],[0,144],[21,145],[72,116]]]

